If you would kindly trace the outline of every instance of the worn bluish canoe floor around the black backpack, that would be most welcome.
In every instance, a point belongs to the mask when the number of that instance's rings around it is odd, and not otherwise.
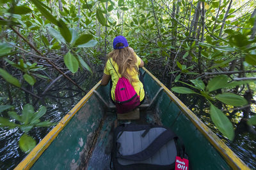
[[[105,117],[100,123],[97,134],[93,139],[93,145],[85,159],[83,169],[110,169],[113,130],[116,125],[125,122],[161,125],[160,118],[151,110],[140,111],[139,120],[118,120],[117,124],[115,124],[116,120],[115,113],[106,112]]]

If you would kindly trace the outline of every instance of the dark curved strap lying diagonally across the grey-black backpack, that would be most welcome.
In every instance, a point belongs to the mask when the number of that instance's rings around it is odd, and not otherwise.
[[[172,131],[164,131],[162,132],[154,141],[147,147],[145,150],[141,152],[135,153],[133,155],[121,155],[119,152],[116,157],[128,159],[128,160],[146,160],[152,155],[154,155],[163,145],[168,143],[171,139],[175,138],[176,135]]]

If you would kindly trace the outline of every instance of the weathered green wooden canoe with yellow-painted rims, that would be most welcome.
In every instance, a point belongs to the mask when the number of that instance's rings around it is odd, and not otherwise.
[[[147,100],[138,123],[170,127],[184,141],[193,169],[249,169],[163,83],[141,71]],[[115,120],[109,86],[99,82],[15,169],[109,169]]]

